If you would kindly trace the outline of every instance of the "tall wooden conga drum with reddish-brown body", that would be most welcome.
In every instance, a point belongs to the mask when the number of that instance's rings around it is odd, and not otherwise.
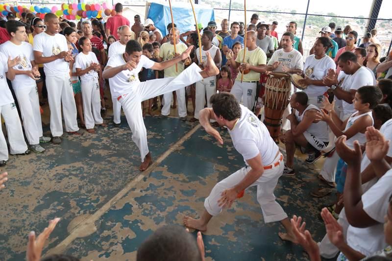
[[[272,139],[277,142],[280,134],[283,112],[289,103],[291,76],[284,72],[271,72],[266,83],[264,97],[264,124]]]

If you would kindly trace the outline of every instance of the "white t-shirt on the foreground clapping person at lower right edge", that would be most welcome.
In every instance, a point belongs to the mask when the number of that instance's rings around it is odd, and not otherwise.
[[[392,169],[382,176],[373,187],[362,195],[364,211],[379,224],[367,228],[349,226],[347,243],[365,256],[387,246],[384,236],[384,216],[387,214],[392,194]]]

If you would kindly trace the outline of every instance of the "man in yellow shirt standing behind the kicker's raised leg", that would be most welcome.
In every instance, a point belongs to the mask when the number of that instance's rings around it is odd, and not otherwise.
[[[177,28],[174,29],[175,29],[175,48],[177,53],[174,53],[174,35],[173,35],[173,29],[171,29],[169,33],[169,42],[164,43],[159,51],[159,57],[157,58],[158,62],[171,60],[174,57],[179,56],[187,49],[187,46],[184,43],[180,42],[180,31]],[[172,67],[165,69],[164,71],[165,78],[176,77],[182,71],[184,71],[184,63],[180,62],[177,64],[177,67],[173,65]],[[175,93],[177,94],[178,116],[182,121],[187,120],[185,87],[186,86],[184,85],[184,88],[180,88],[175,91]],[[169,116],[170,106],[172,105],[172,96],[173,95],[171,92],[163,95],[164,103],[159,118],[162,119]]]

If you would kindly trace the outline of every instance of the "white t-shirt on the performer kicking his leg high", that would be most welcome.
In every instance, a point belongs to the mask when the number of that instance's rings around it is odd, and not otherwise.
[[[106,66],[110,67],[118,67],[125,64],[125,60],[123,58],[123,54],[116,54],[110,57]],[[155,64],[154,61],[148,59],[146,56],[142,55],[140,61],[135,69],[132,71],[124,70],[112,78],[109,78],[109,84],[112,88],[111,91],[114,97],[118,97],[123,94],[128,94],[131,92],[134,86],[140,84],[139,81],[139,72],[142,71],[142,68],[150,69]]]

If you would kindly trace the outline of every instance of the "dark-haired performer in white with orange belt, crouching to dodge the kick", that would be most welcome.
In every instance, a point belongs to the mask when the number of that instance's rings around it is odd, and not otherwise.
[[[223,207],[230,208],[244,190],[257,186],[257,201],[265,222],[280,221],[287,233],[279,233],[279,237],[295,241],[290,220],[273,194],[279,177],[283,174],[284,163],[283,155],[270,137],[267,127],[249,109],[240,105],[232,94],[215,94],[211,97],[211,103],[212,108],[200,111],[200,124],[221,144],[221,135],[210,125],[210,119],[225,126],[234,147],[244,157],[246,166],[215,185],[204,201],[203,214],[199,219],[185,216],[185,226],[200,231],[207,230],[210,219],[220,214]]]

